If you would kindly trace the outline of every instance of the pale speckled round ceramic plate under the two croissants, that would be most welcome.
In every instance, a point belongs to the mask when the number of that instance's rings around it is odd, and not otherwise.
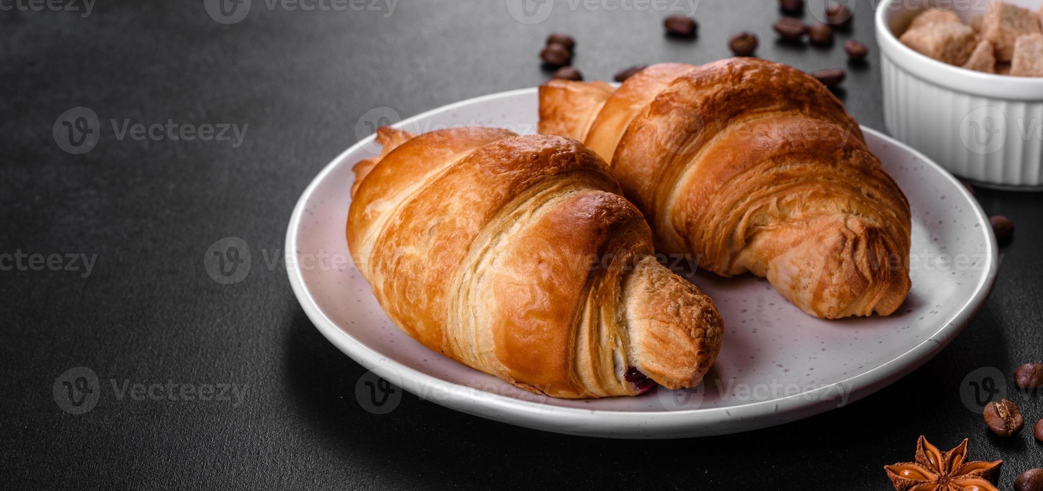
[[[535,89],[480,97],[403,121],[414,132],[491,125],[534,132]],[[468,414],[572,435],[680,438],[766,427],[865,397],[919,367],[985,301],[996,244],[974,198],[933,162],[864,128],[870,148],[913,207],[913,290],[890,317],[825,321],[759,278],[692,279],[725,319],[721,355],[703,386],[638,397],[562,400],[531,394],[431,351],[384,315],[350,261],[344,225],[351,166],[378,151],[366,138],[305,191],[286,238],[290,283],[315,326],[378,375]]]

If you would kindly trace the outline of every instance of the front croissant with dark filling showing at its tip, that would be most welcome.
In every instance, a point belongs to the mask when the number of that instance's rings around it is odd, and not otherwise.
[[[425,346],[553,397],[694,387],[721,348],[713,302],[655,257],[605,162],[576,141],[389,127],[356,168],[347,243]]]

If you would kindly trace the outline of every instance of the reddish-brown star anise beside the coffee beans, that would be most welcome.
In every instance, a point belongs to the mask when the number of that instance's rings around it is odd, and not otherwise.
[[[1003,461],[966,462],[967,439],[960,446],[941,451],[927,439],[916,443],[916,462],[884,466],[898,491],[999,491],[996,478]]]

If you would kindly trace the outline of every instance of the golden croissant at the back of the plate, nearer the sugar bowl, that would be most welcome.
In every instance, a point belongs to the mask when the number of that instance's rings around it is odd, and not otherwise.
[[[889,315],[909,290],[909,206],[818,80],[730,58],[653,65],[616,90],[551,80],[539,132],[610,162],[656,245],[765,276],[804,312]]]

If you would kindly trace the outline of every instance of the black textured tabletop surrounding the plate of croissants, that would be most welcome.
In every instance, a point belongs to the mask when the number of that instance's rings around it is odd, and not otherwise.
[[[839,95],[882,129],[875,3],[857,2],[850,34],[870,46],[871,62]],[[564,0],[535,25],[516,22],[504,0],[401,0],[386,13],[268,10],[253,0],[245,20],[222,25],[198,0],[102,1],[86,19],[0,11],[0,253],[98,254],[86,278],[0,271],[0,487],[886,489],[881,466],[911,460],[919,435],[943,448],[967,437],[973,458],[1005,460],[1005,489],[1043,466],[1027,427],[993,437],[960,399],[976,368],[1009,374],[1043,359],[1043,200],[1027,193],[978,191],[987,213],[1019,228],[963,335],[902,380],[827,414],[725,437],[611,441],[513,427],[412,395],[387,415],[364,411],[354,396],[364,370],[318,334],[285,269],[261,267],[257,251],[281,252],[297,197],[356,141],[367,111],[408,117],[536,85],[548,77],[537,53],[556,30],[576,36],[588,78],[721,58],[739,30],[760,35],[762,57],[845,66],[840,46],[777,44],[772,0],[703,0],[696,42],[663,38],[670,11],[573,9]],[[82,155],[51,133],[74,106],[102,121],[100,142]],[[118,141],[111,119],[249,126],[233,148]],[[229,236],[247,241],[254,267],[222,286],[202,256]],[[74,416],[51,389],[79,366],[98,374],[102,392]],[[112,378],[247,392],[238,407],[117,400]],[[1029,425],[1043,417],[1040,397],[1012,398]]]

